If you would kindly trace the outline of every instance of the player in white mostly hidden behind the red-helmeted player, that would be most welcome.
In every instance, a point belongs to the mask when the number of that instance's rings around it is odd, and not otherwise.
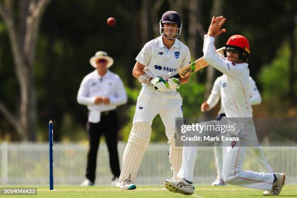
[[[223,76],[217,77],[214,81],[213,89],[208,97],[207,101],[204,101],[201,105],[201,112],[209,111],[218,103],[221,94],[220,87],[226,86],[226,84],[222,83]],[[252,77],[248,77],[248,91],[251,105],[260,104],[262,101],[260,92],[256,86],[256,82],[252,79]],[[220,105],[220,110],[216,117],[217,120],[220,120],[222,117],[226,117],[225,110],[223,105]],[[269,173],[273,173],[273,169],[269,164],[262,147],[248,147],[249,151],[256,157],[257,161],[264,167]],[[214,147],[214,161],[216,166],[216,180],[212,183],[212,186],[217,185],[226,185],[223,176],[223,148],[222,147]]]

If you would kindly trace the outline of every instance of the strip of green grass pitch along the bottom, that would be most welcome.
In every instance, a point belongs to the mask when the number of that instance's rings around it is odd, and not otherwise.
[[[107,186],[57,186],[54,191],[50,191],[48,186],[38,186],[37,196],[21,196],[21,198],[259,198],[264,197],[262,192],[261,190],[230,185],[223,187],[195,185],[195,194],[191,196],[169,192],[162,186],[139,186],[136,190],[131,191]],[[14,198],[19,196],[1,197]],[[285,185],[279,197],[297,198],[297,185]]]

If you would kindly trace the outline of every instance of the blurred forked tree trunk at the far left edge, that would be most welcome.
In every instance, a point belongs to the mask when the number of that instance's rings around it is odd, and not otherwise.
[[[49,0],[0,1],[0,15],[11,42],[16,78],[20,87],[20,115],[14,115],[0,100],[0,111],[23,140],[35,140],[37,110],[33,64],[41,16]]]

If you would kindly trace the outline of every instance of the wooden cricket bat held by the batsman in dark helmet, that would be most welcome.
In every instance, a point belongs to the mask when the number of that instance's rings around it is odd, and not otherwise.
[[[220,54],[223,54],[224,49],[225,47],[217,49],[216,51],[219,52]],[[190,65],[181,68],[177,74],[175,74],[174,76],[171,76],[170,78],[180,78],[180,77],[185,78],[206,66],[209,66],[209,64],[204,60],[203,57],[201,57],[196,61],[190,63]]]

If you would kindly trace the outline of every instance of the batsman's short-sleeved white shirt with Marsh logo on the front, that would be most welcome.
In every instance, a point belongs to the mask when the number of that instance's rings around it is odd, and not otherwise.
[[[136,57],[136,61],[146,66],[144,72],[149,77],[160,76],[167,80],[190,64],[190,50],[180,40],[175,39],[173,46],[167,49],[159,36],[145,44]],[[168,75],[168,72],[172,72]],[[143,84],[143,86],[146,86]],[[175,91],[168,89],[168,91]]]

